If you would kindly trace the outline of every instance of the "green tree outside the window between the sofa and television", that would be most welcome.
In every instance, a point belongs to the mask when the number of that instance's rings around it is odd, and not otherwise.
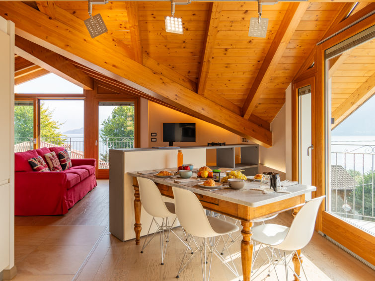
[[[101,123],[100,139],[108,148],[134,147],[134,106],[118,106]],[[100,153],[106,161],[107,151]]]

